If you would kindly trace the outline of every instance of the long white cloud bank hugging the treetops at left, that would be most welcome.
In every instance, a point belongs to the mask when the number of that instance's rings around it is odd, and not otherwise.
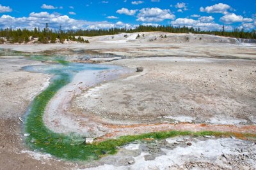
[[[68,17],[67,15],[59,15],[56,13],[30,13],[29,17],[15,18],[10,15],[3,15],[0,17],[0,27],[12,27],[13,29],[34,29],[35,27],[40,27],[41,29],[45,27],[48,23],[51,29],[59,29],[60,25],[63,30],[68,29],[109,29],[113,27],[127,27],[133,28],[134,25],[122,24],[116,25],[111,22],[90,22],[86,20],[75,20]],[[120,24],[120,23],[119,23]]]

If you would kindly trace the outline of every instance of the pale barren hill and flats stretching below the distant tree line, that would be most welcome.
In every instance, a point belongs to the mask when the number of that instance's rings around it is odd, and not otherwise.
[[[140,34],[140,38],[134,36]],[[143,37],[142,35],[145,34]],[[160,38],[165,35],[167,38]],[[91,43],[66,43],[45,45],[0,45],[0,48],[10,48],[23,52],[42,52],[45,50],[93,50],[100,53],[113,53],[125,57],[140,56],[190,56],[190,57],[246,57],[255,59],[256,44],[239,43],[235,38],[224,38],[204,34],[171,34],[166,32],[140,32],[134,34],[112,36],[97,36],[89,39]],[[186,38],[189,40],[186,40]],[[157,38],[157,40],[150,41]],[[201,39],[200,39],[201,38]],[[108,41],[108,43],[106,43]],[[118,41],[118,43],[116,43]],[[105,43],[104,43],[105,42]],[[81,56],[72,55],[69,60],[77,60]]]

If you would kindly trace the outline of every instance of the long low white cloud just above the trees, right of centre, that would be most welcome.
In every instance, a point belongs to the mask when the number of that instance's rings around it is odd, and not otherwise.
[[[214,30],[221,30],[223,25],[216,24],[216,23],[209,23],[209,22],[201,22],[200,20],[193,20],[189,18],[177,18],[176,20],[173,20],[171,24],[174,27],[194,27],[194,28],[200,28],[204,31],[214,31]],[[225,29],[227,31],[231,31],[233,29],[232,26],[226,25]]]

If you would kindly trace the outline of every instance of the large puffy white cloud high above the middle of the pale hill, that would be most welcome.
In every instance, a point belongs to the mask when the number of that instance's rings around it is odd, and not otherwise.
[[[170,10],[161,10],[160,8],[143,8],[137,17],[137,21],[142,22],[161,22],[166,19],[175,19],[175,15]]]

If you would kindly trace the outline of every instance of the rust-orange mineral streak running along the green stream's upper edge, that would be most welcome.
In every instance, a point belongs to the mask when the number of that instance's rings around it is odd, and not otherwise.
[[[214,125],[214,124],[134,124],[134,125],[113,125],[104,124],[109,133],[98,138],[97,141],[104,141],[109,138],[116,138],[125,135],[136,135],[148,132],[161,131],[218,131],[232,132],[237,138],[244,138],[243,133],[256,134],[256,125]]]

